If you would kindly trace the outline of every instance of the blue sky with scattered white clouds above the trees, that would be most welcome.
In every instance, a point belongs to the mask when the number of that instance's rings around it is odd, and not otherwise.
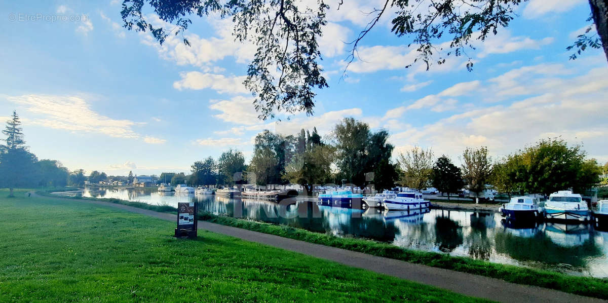
[[[586,0],[530,0],[507,29],[475,41],[466,57],[426,71],[408,37],[390,33],[390,12],[359,46],[342,77],[356,34],[378,1],[331,0],[320,39],[329,88],[313,116],[257,119],[241,84],[255,47],[232,38],[232,23],[193,17],[181,37],[160,46],[122,27],[119,1],[2,1],[0,121],[16,110],[31,152],[71,170],[108,175],[188,172],[194,161],[237,148],[250,158],[255,135],[295,134],[354,117],[390,133],[395,154],[432,148],[455,162],[466,147],[494,159],[561,136],[589,158],[608,161],[608,63],[565,47],[589,22]],[[337,0],[334,1],[337,3]],[[147,12],[151,22],[160,21]],[[595,32],[595,29],[593,29]],[[289,118],[289,119],[287,119]]]

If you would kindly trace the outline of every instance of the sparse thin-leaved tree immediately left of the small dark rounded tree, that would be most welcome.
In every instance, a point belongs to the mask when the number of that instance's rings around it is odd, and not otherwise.
[[[433,173],[433,151],[412,147],[405,154],[400,153],[398,162],[401,166],[402,184],[413,189],[421,190],[429,186]]]

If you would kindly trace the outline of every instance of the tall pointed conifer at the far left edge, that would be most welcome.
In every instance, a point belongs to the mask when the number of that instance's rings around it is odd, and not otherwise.
[[[2,134],[5,144],[0,145],[0,184],[9,188],[9,197],[14,197],[13,188],[33,186],[36,183],[36,156],[27,150],[23,139],[21,121],[16,111],[6,122]]]

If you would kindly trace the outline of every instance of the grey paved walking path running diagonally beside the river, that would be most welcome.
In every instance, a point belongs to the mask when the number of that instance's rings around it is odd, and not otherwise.
[[[33,194],[35,195],[35,194]],[[35,195],[36,197],[41,197]],[[61,199],[61,198],[60,198]],[[63,198],[66,199],[66,198]],[[74,201],[74,199],[66,199]],[[177,221],[176,214],[155,212],[148,209],[126,206],[123,204],[109,203],[94,200],[79,200],[85,203],[109,206],[137,214],[148,215],[162,220]],[[250,242],[257,242],[288,251],[300,252],[308,256],[332,260],[344,265],[375,271],[401,279],[432,285],[455,293],[465,294],[477,298],[489,299],[499,302],[605,302],[576,294],[564,293],[562,291],[550,290],[541,287],[513,284],[503,280],[490,277],[477,276],[475,274],[460,273],[458,271],[444,270],[426,265],[408,263],[401,260],[384,257],[371,256],[356,251],[333,248],[300,240],[293,240],[277,235],[264,234],[249,231],[247,229],[233,228],[232,226],[218,225],[207,221],[198,221],[199,229],[216,232],[218,234],[230,235]],[[172,231],[171,231],[172,232]],[[364,290],[362,290],[364,291]]]

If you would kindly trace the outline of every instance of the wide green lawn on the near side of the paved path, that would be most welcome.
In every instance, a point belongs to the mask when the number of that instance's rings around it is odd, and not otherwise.
[[[477,301],[78,200],[4,198],[0,302]]]

